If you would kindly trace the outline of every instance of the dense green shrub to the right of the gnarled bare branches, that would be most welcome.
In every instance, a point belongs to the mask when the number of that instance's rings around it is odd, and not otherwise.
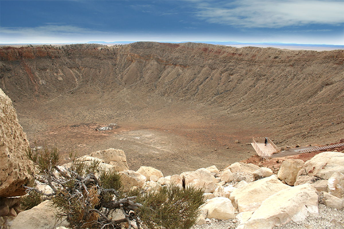
[[[177,185],[163,186],[160,191],[134,190],[140,219],[150,229],[188,229],[195,224],[200,206],[205,203],[202,188],[192,186],[183,189]]]

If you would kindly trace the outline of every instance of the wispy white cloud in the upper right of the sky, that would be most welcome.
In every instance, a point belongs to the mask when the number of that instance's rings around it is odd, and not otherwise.
[[[344,23],[344,2],[323,0],[238,0],[198,2],[196,16],[209,23],[280,28]]]

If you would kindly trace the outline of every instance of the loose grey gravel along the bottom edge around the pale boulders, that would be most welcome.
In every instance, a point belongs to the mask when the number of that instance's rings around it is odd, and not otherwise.
[[[195,225],[192,229],[234,229],[238,225],[236,219],[210,219],[208,224]],[[344,229],[344,209],[337,210],[319,204],[319,215],[310,214],[303,221],[288,222],[281,227],[274,227],[273,229]]]

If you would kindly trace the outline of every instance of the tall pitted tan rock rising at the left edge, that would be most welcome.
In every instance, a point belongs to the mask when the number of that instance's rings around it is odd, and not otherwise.
[[[18,123],[11,99],[0,89],[0,198],[25,195],[23,184],[33,179],[26,157],[29,141]]]

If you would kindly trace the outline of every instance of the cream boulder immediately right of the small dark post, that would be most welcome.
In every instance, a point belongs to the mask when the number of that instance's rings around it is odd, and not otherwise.
[[[194,185],[196,188],[204,188],[204,192],[213,193],[215,191],[216,178],[205,168],[197,169],[193,172],[183,172],[180,174],[185,178],[185,185]]]

